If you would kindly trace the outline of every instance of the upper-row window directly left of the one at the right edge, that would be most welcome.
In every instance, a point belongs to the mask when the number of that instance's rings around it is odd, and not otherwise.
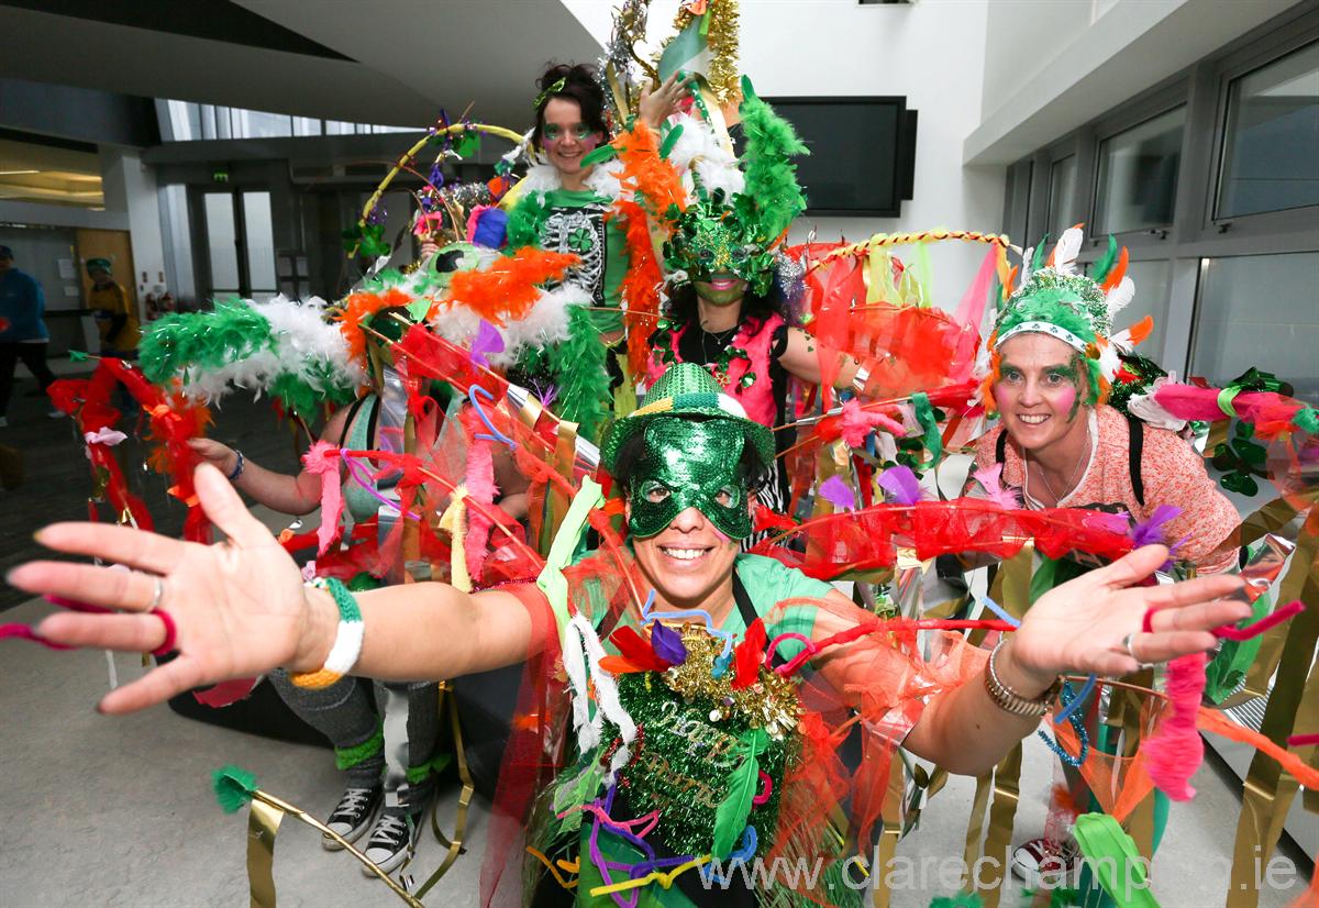
[[[1173,223],[1186,107],[1099,144],[1095,234],[1124,234]]]

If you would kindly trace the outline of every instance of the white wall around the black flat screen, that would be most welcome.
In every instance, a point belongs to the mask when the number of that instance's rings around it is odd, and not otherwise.
[[[563,0],[601,42],[611,0]],[[1087,0],[1088,3],[1088,0]],[[997,231],[1004,168],[964,168],[962,146],[980,125],[989,0],[921,0],[861,7],[856,0],[743,0],[741,69],[766,96],[906,95],[919,111],[914,198],[901,218],[802,218],[820,242],[930,227]],[[650,5],[652,41],[671,33],[677,3]],[[807,191],[810,187],[806,187]],[[901,253],[900,253],[901,255]],[[935,298],[956,306],[984,247],[931,247]]]

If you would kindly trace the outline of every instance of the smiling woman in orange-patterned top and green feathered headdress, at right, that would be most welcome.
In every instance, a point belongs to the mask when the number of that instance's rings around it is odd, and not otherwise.
[[[1080,231],[1072,228],[1047,264],[1037,261],[1024,275],[998,313],[981,399],[1000,425],[976,439],[976,466],[996,471],[1033,509],[1096,508],[1149,521],[1159,508],[1173,508],[1163,532],[1181,540],[1177,556],[1199,573],[1228,570],[1236,564],[1231,537],[1240,517],[1200,455],[1173,432],[1105,404],[1120,364],[1113,347],[1121,340],[1111,337],[1113,304],[1134,288],[1124,280],[1125,259],[1116,257],[1116,245],[1101,264],[1108,271],[1096,269],[1093,277],[1076,271],[1071,259],[1079,248]],[[1071,575],[1080,568],[1063,562],[1058,570]],[[1100,746],[1104,729],[1091,729]],[[1066,775],[1075,802],[1087,804],[1091,794],[1079,772]],[[1155,812],[1157,845],[1167,817],[1162,793],[1155,793]],[[1021,845],[1013,867],[1035,886],[1041,871],[1062,870],[1074,859],[1071,845],[1050,834]]]

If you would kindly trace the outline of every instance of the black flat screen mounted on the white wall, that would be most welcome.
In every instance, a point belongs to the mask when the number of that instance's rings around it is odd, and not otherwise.
[[[807,214],[901,216],[915,174],[917,112],[905,96],[765,100],[811,149],[797,158]]]

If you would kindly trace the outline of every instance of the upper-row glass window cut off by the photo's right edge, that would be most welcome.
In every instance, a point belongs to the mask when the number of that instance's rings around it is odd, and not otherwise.
[[[1216,216],[1319,205],[1319,44],[1232,81]]]

